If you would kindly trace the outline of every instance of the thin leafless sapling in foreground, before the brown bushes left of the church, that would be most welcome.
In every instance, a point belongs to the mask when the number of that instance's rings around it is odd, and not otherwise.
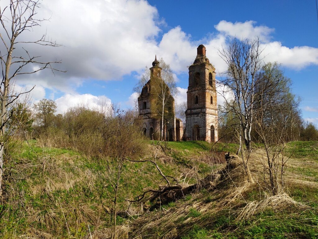
[[[105,119],[105,130],[103,139],[105,143],[105,159],[101,164],[106,164],[104,177],[106,178],[105,188],[108,197],[112,200],[113,232],[112,238],[117,238],[116,217],[118,210],[119,191],[122,187],[122,173],[127,159],[133,159],[142,153],[142,140],[135,125],[135,118],[129,113],[120,109],[114,109],[114,115]],[[106,183],[107,182],[107,183]]]

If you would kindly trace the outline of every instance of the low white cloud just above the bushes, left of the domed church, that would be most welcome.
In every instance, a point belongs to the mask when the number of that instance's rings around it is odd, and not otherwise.
[[[108,112],[111,100],[106,96],[94,96],[91,94],[65,94],[55,100],[57,105],[57,113],[63,114],[70,107],[85,106],[91,110],[100,112]]]

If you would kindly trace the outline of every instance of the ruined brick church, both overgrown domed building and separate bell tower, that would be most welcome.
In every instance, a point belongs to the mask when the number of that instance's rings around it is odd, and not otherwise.
[[[197,47],[197,57],[189,67],[189,86],[187,91],[187,110],[185,131],[183,123],[175,117],[174,98],[169,94],[169,102],[164,108],[164,122],[154,112],[152,92],[155,83],[161,80],[161,68],[155,58],[150,68],[150,79],[143,86],[138,98],[139,115],[143,118],[142,131],[151,139],[167,141],[202,140],[215,142],[218,140],[218,109],[215,85],[215,68],[205,55],[203,45]],[[162,128],[163,127],[163,128]]]

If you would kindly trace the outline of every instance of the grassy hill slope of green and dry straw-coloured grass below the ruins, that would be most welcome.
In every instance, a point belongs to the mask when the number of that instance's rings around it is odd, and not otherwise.
[[[145,147],[153,158],[150,144]],[[1,238],[108,238],[112,195],[102,159],[36,141],[13,149],[0,205]],[[253,167],[254,183],[239,167],[226,168],[224,153],[235,150],[231,144],[211,150],[206,142],[168,142],[156,161],[163,173],[183,186],[202,187],[159,206],[149,200],[129,206],[127,199],[164,183],[153,164],[127,162],[117,217],[122,237],[317,238],[318,142],[288,144],[293,157],[286,195],[276,197],[260,190],[262,175]]]

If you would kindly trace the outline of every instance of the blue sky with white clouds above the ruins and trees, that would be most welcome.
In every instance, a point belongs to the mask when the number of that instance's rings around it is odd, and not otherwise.
[[[1,1],[1,6],[5,2]],[[301,97],[305,120],[318,124],[318,20],[315,0],[144,1],[43,0],[38,16],[50,18],[21,39],[46,33],[61,47],[27,46],[44,60],[62,60],[66,73],[43,70],[17,77],[35,102],[56,101],[58,113],[84,103],[92,108],[116,103],[132,108],[132,89],[145,66],[157,58],[170,64],[186,101],[188,66],[204,44],[216,72],[226,69],[218,50],[233,37],[259,36],[266,62],[279,62]],[[16,49],[17,54],[23,54]],[[36,68],[35,68],[36,69]],[[216,76],[218,80],[219,76]]]

